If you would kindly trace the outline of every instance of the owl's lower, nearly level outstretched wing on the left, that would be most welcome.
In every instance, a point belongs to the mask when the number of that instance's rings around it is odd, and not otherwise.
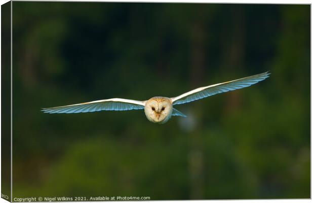
[[[60,114],[60,113],[86,113],[95,111],[126,111],[133,109],[144,109],[144,101],[137,101],[124,98],[110,98],[97,101],[91,101],[82,104],[43,108],[44,113]]]

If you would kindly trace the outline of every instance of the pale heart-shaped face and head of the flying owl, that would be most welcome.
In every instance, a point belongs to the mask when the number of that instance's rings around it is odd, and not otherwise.
[[[171,118],[172,102],[167,97],[152,97],[146,101],[145,115],[153,123],[165,123]]]

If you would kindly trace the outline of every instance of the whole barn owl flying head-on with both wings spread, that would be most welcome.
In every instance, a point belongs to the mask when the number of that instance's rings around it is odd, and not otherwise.
[[[200,87],[176,97],[168,98],[164,96],[154,96],[145,101],[138,101],[125,98],[110,98],[97,101],[90,101],[87,103],[43,108],[44,113],[60,114],[60,113],[86,113],[95,111],[126,111],[133,109],[144,109],[147,119],[153,123],[166,123],[171,116],[183,116],[183,113],[179,112],[174,105],[181,105],[189,103],[190,101],[198,100],[204,97],[212,96],[214,94],[227,92],[235,89],[241,89],[249,87],[259,81],[262,81],[269,77],[268,72],[241,78],[238,80],[232,80],[224,83],[218,83],[215,85]]]

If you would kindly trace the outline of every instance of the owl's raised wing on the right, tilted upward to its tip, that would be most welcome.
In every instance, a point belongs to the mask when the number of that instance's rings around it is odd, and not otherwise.
[[[265,80],[266,78],[269,77],[269,74],[270,73],[266,72],[266,73],[261,73],[254,76],[249,76],[246,78],[241,78],[238,80],[232,80],[229,82],[219,83],[219,84],[210,85],[206,87],[200,87],[192,91],[186,92],[184,94],[181,94],[180,96],[171,98],[172,104],[180,105],[180,104],[188,103],[193,100],[212,96],[214,94],[227,92],[227,91],[231,91],[235,89],[241,89],[244,87],[249,87],[255,83],[258,83],[259,81]]]

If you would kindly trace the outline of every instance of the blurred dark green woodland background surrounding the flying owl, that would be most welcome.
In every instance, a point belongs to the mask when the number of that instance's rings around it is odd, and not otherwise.
[[[265,71],[164,125],[40,111]],[[13,197],[309,198],[310,5],[13,2],[13,105]]]

